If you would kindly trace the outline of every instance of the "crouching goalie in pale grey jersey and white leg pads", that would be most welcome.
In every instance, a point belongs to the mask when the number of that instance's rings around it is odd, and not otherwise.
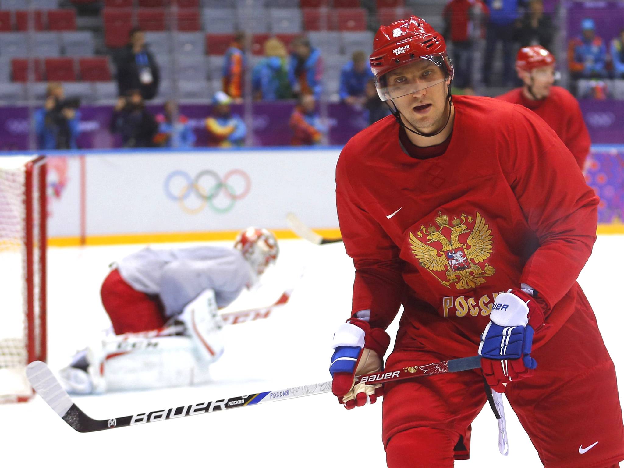
[[[208,366],[223,353],[218,309],[255,285],[278,253],[273,233],[248,228],[234,248],[148,247],[113,264],[101,295],[115,334],[61,370],[67,390],[205,383]]]

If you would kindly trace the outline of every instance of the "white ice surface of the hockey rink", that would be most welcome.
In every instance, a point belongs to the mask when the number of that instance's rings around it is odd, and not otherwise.
[[[624,381],[620,333],[624,318],[622,306],[615,309],[613,295],[622,288],[622,273],[612,252],[623,243],[624,236],[600,236],[579,279],[620,383]],[[212,368],[214,383],[76,397],[77,404],[91,417],[108,419],[328,380],[331,336],[350,310],[353,265],[341,243],[316,246],[281,241],[280,245],[280,260],[266,273],[264,285],[241,296],[229,309],[275,301],[305,267],[303,279],[295,286],[289,305],[271,318],[225,328],[227,344],[223,358]],[[107,328],[100,284],[111,261],[137,248],[49,251],[48,343],[53,370],[65,366],[74,351]],[[391,336],[396,326],[395,321],[389,329]],[[52,461],[67,468],[385,466],[381,404],[346,411],[331,394],[93,434],[75,432],[36,397],[27,404],[0,406],[0,427],[2,467],[49,466]],[[503,457],[497,449],[497,424],[486,406],[472,424],[470,460],[456,466],[541,466],[509,406],[507,428],[509,457]],[[588,437],[585,445],[594,442]]]

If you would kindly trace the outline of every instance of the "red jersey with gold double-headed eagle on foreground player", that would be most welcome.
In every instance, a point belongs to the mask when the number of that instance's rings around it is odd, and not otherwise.
[[[446,151],[419,159],[394,117],[359,132],[336,167],[336,205],[354,260],[353,310],[449,357],[477,353],[494,298],[525,283],[549,310],[539,348],[582,302],[598,198],[555,132],[530,110],[454,96]],[[404,130],[400,130],[404,131]]]

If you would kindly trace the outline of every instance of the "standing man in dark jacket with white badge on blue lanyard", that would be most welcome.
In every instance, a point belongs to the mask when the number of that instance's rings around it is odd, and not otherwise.
[[[138,89],[143,99],[153,99],[158,94],[160,70],[154,55],[145,46],[145,32],[135,27],[130,31],[130,42],[117,60],[117,87],[120,96]]]

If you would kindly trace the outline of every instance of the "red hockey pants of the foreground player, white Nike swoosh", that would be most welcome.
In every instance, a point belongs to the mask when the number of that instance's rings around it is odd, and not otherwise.
[[[592,311],[575,311],[531,355],[537,361],[535,375],[508,384],[505,394],[544,466],[617,466],[624,460],[622,409],[615,368]],[[399,333],[386,370],[448,358]],[[465,459],[469,425],[487,401],[483,386],[477,371],[387,384],[383,442],[388,466],[452,466],[454,458]]]

